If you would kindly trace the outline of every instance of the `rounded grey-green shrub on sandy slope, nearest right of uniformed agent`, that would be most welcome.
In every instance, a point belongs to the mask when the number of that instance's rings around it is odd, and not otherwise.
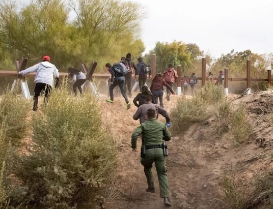
[[[200,97],[193,97],[191,100],[180,97],[171,110],[173,128],[180,131],[185,131],[193,123],[202,122],[209,116],[208,106]]]

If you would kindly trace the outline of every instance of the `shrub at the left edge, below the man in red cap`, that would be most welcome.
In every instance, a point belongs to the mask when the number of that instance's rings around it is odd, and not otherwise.
[[[6,91],[1,96],[0,126],[5,125],[6,141],[10,141],[13,146],[18,146],[28,133],[30,107],[30,101],[16,93]]]

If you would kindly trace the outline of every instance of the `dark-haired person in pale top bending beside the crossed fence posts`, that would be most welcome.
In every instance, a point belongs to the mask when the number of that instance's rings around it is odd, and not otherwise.
[[[83,94],[83,89],[81,89],[81,86],[86,82],[86,75],[75,68],[68,68],[68,73],[72,78],[72,82],[74,82],[73,84],[74,95],[75,96],[77,95],[77,88],[79,90],[79,93]]]

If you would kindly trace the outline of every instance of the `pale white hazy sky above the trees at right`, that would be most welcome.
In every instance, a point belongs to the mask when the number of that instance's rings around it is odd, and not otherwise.
[[[196,43],[219,57],[232,49],[273,52],[273,0],[133,0],[147,10],[141,38],[146,52],[156,41]]]

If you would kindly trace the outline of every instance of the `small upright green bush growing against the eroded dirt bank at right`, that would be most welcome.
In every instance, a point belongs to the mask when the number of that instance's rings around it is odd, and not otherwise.
[[[231,133],[235,145],[247,141],[252,133],[252,127],[249,123],[247,112],[243,107],[234,111],[230,120]]]

